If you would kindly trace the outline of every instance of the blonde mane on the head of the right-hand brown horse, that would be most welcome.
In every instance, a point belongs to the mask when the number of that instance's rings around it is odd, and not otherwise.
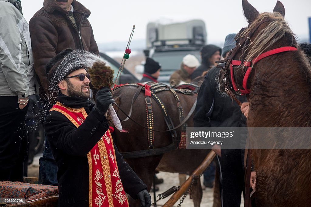
[[[242,33],[240,33],[239,37],[247,36],[247,34],[258,24],[258,22],[262,21],[265,18],[271,18],[273,21],[269,23],[269,25],[259,31],[256,38],[250,43],[247,49],[244,51],[246,54],[245,60],[248,62],[253,58],[257,57],[263,52],[266,52],[268,48],[271,48],[278,40],[284,38],[285,34],[291,34],[293,37],[293,41],[291,45],[292,47],[298,48],[298,41],[296,35],[293,34],[287,22],[284,20],[284,17],[279,12],[264,12],[258,15],[258,18],[254,20],[251,25],[247,29],[245,29]],[[241,55],[243,56],[244,53]]]

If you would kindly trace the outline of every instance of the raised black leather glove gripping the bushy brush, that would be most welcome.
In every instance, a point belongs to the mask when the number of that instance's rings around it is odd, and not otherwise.
[[[105,115],[108,106],[114,102],[111,96],[110,88],[100,88],[95,96],[95,110],[101,115]]]

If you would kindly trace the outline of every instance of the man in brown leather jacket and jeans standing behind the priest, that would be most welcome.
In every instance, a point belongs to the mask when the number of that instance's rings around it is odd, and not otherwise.
[[[76,0],[44,0],[43,7],[30,19],[30,37],[35,71],[40,79],[40,98],[44,103],[48,89],[45,65],[66,48],[84,49],[98,54],[93,30],[87,20],[91,14]],[[49,110],[45,107],[45,110]],[[58,185],[57,165],[49,143],[44,142],[43,157],[39,164],[39,184]]]

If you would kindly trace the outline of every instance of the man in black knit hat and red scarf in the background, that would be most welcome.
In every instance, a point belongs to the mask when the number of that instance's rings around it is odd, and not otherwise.
[[[144,65],[144,74],[142,75],[142,80],[140,82],[155,82],[158,83],[157,79],[160,75],[161,65],[154,61],[152,58],[147,57],[146,63]]]

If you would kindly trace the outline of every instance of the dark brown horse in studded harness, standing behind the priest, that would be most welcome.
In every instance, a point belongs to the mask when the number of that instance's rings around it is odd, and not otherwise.
[[[132,98],[134,97],[136,91],[137,87],[135,86],[123,86],[117,88],[114,92],[113,98],[115,102],[118,104],[120,109],[124,110],[126,113],[129,113],[130,111]],[[147,126],[144,94],[144,91],[141,91],[137,99],[134,101],[131,118],[137,123],[143,126]],[[167,113],[173,121],[174,126],[177,126],[180,123],[179,111],[172,92],[161,91],[156,93],[156,95],[163,102]],[[184,117],[186,117],[197,99],[197,93],[194,93],[193,95],[185,95],[183,93],[177,92],[177,95],[179,97],[180,104],[183,107]],[[124,115],[121,110],[119,110],[117,107],[115,107],[115,110],[117,111],[120,120],[126,119],[126,115]],[[154,99],[152,99],[152,110],[154,129],[162,131],[168,130],[168,127],[165,124],[163,113]],[[121,121],[123,128],[127,130],[128,133],[120,133],[119,131],[114,130],[112,136],[120,152],[124,153],[148,149],[147,129],[143,128],[137,123],[133,122],[132,120]],[[193,127],[193,114],[186,123],[188,127]],[[178,137],[180,137],[181,127],[179,127],[176,132]],[[172,143],[172,137],[169,132],[154,131],[154,137],[154,148],[165,147]],[[148,191],[150,191],[153,175],[155,174],[156,170],[172,173],[192,173],[193,170],[196,169],[199,164],[201,164],[208,152],[208,150],[178,149],[161,155],[126,160],[132,169],[137,173],[137,175],[142,179],[142,181],[146,183],[148,186]],[[192,189],[194,206],[198,207],[200,206],[202,199],[201,183],[196,182]],[[139,202],[133,199],[129,199],[129,202],[130,206],[140,206]]]

